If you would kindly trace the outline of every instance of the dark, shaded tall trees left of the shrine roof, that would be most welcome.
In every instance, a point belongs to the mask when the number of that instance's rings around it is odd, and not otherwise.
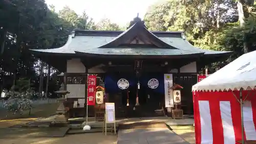
[[[10,90],[16,79],[30,77],[38,89],[35,63],[29,49],[61,47],[71,31],[44,1],[1,1],[0,93]],[[13,82],[12,82],[13,81]]]

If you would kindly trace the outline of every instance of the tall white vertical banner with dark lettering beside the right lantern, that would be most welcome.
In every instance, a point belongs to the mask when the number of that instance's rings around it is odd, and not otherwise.
[[[164,99],[166,108],[174,107],[174,94],[170,87],[173,87],[173,74],[164,74]]]

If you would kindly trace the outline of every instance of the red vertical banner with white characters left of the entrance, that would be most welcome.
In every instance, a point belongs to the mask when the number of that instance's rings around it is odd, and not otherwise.
[[[95,106],[96,75],[88,75],[87,104]]]

